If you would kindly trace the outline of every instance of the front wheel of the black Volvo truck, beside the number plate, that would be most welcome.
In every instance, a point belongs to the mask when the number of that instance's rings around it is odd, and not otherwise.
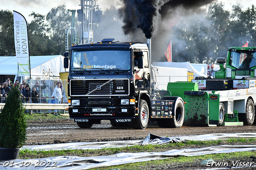
[[[148,126],[149,119],[148,103],[144,100],[140,100],[139,113],[132,120],[132,127],[135,129],[145,129]]]

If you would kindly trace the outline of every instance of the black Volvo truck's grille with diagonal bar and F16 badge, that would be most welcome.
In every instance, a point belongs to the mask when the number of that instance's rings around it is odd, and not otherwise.
[[[128,79],[70,80],[70,96],[129,95]]]

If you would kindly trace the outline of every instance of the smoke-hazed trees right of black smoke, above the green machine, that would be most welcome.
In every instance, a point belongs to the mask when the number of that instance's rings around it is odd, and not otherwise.
[[[205,13],[182,18],[172,33],[174,62],[214,63],[226,57],[228,47],[256,44],[256,8],[242,10],[236,4],[225,10],[222,2],[215,2]]]

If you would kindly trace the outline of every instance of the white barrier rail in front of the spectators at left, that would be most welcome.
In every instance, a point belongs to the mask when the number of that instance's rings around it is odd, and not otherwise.
[[[3,108],[5,103],[0,103],[0,108]],[[27,110],[66,110],[68,104],[54,104],[54,103],[23,103],[22,104]]]

